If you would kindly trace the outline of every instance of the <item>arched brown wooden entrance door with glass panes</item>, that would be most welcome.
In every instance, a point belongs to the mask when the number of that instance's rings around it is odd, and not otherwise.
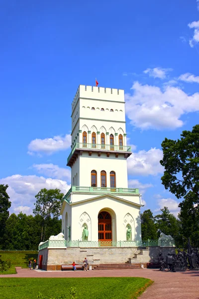
[[[99,241],[112,241],[111,216],[105,211],[98,215],[98,239]]]

